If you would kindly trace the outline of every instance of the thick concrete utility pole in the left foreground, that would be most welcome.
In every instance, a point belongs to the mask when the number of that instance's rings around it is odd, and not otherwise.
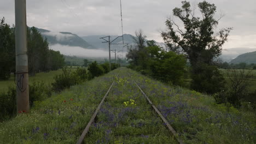
[[[26,0],[15,0],[15,51],[17,111],[30,110],[28,94]]]

